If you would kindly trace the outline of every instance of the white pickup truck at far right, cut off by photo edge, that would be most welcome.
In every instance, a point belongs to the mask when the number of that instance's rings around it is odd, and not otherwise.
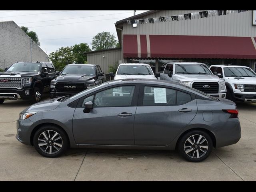
[[[256,73],[251,68],[212,65],[210,70],[225,80],[227,99],[234,102],[256,102]]]

